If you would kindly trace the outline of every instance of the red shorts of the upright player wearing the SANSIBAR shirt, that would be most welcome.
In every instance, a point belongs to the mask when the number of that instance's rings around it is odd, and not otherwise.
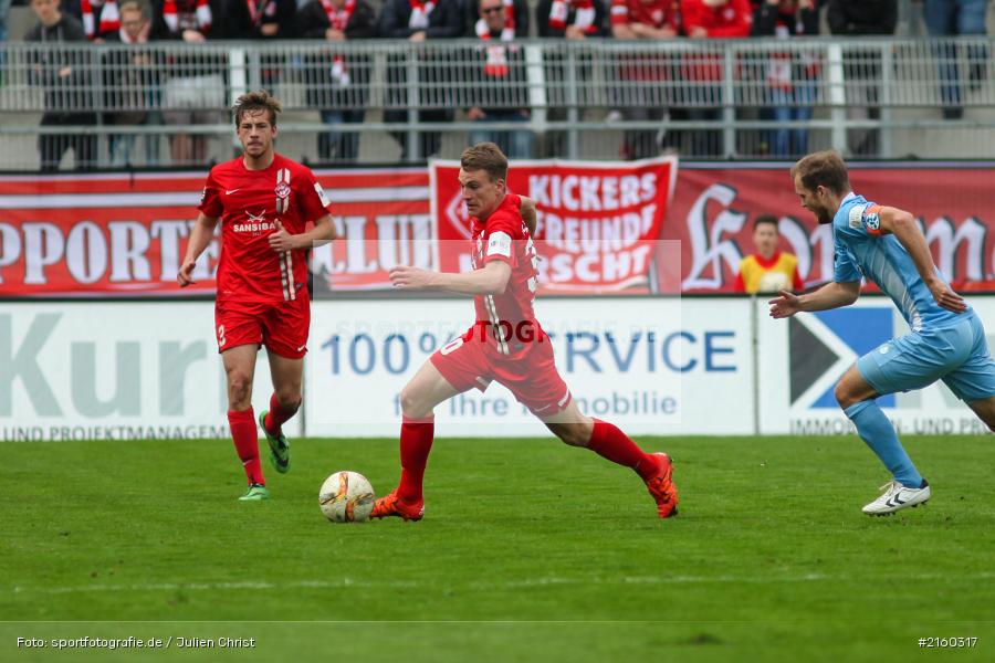
[[[218,351],[241,345],[264,345],[287,359],[307,354],[311,302],[298,296],[290,302],[217,302],[214,333]]]

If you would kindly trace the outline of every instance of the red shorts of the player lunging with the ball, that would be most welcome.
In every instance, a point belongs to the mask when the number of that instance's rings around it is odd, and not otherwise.
[[[548,336],[530,343],[527,351],[515,359],[501,359],[475,332],[471,329],[431,356],[432,366],[454,389],[484,391],[496,381],[536,417],[555,414],[570,404],[570,390],[556,370]]]

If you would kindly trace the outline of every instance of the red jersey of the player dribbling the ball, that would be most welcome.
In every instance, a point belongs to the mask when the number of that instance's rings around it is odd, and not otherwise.
[[[531,344],[546,340],[532,308],[538,285],[538,259],[522,220],[521,204],[519,196],[509,193],[485,222],[476,217],[470,219],[473,269],[481,269],[492,260],[504,261],[512,269],[503,294],[473,298],[476,326],[471,333],[478,338],[485,336],[488,349],[502,358],[522,355]]]

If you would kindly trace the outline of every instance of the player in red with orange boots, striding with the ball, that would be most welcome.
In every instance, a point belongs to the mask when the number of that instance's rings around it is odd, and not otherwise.
[[[399,266],[390,281],[405,290],[472,295],[476,323],[439,349],[401,390],[399,486],[374,504],[371,517],[419,520],[421,484],[434,436],[432,410],[458,393],[496,380],[557,438],[631,467],[646,482],[661,518],[677,514],[678,492],[666,453],[648,454],[615,425],[585,417],[556,370],[549,337],[532,308],[538,277],[532,231],[535,204],[507,191],[507,159],[493,143],[463,151],[460,190],[470,213],[473,271],[448,274]]]

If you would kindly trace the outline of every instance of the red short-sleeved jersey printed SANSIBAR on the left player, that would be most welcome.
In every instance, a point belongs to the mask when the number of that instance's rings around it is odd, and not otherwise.
[[[331,213],[310,168],[280,155],[264,170],[249,170],[242,157],[211,168],[198,210],[221,218],[218,298],[285,302],[307,294],[307,251],[277,254],[269,235],[275,220],[291,234]]]

